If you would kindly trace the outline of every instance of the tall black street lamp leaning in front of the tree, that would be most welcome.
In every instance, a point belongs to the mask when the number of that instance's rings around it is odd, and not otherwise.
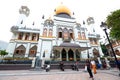
[[[118,67],[118,69],[119,69],[119,76],[120,76],[120,64],[119,64],[119,62],[118,62],[118,60],[117,60],[117,57],[116,57],[115,52],[114,52],[114,50],[113,50],[112,44],[111,44],[110,39],[109,39],[109,37],[108,37],[108,33],[107,33],[107,31],[106,31],[106,30],[107,30],[107,24],[106,24],[105,22],[101,22],[100,27],[103,29],[103,31],[105,31],[105,34],[106,34],[106,36],[107,36],[107,39],[108,39],[110,48],[111,48],[111,50],[112,50],[113,56],[115,57],[115,61],[116,61],[117,67]]]

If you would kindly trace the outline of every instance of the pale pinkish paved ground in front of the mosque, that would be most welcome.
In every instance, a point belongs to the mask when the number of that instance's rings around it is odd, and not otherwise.
[[[3,70],[0,71],[0,80],[92,80],[83,69],[72,70]],[[97,70],[94,80],[120,80],[118,70]]]

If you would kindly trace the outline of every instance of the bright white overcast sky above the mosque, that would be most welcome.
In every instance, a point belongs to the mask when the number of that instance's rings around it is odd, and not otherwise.
[[[54,9],[63,3],[71,12],[75,13],[76,20],[82,23],[88,17],[93,17],[97,32],[102,34],[100,29],[101,21],[113,11],[120,9],[120,0],[0,0],[0,40],[9,42],[12,33],[10,28],[17,24],[20,17],[19,9],[27,6],[30,9],[28,23],[35,22],[35,28],[39,28],[42,15],[49,18],[53,15]]]

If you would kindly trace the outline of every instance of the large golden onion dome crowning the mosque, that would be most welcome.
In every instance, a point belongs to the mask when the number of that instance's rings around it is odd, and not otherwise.
[[[69,16],[71,15],[70,9],[68,9],[66,6],[63,4],[60,4],[56,9],[55,9],[55,14],[60,14],[60,13],[65,13],[68,14]]]

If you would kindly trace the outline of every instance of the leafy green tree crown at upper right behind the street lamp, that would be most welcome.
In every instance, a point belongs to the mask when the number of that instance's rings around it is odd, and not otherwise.
[[[110,29],[110,37],[120,40],[120,9],[111,12],[111,14],[107,16],[106,23]]]

